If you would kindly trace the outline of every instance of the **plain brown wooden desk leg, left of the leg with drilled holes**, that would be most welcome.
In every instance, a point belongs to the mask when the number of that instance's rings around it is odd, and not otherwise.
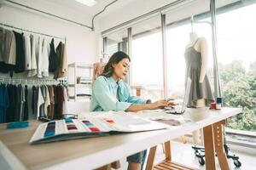
[[[203,131],[204,131],[204,144],[205,144],[205,153],[206,153],[206,167],[207,167],[207,170],[216,170],[212,125],[204,127]]]

